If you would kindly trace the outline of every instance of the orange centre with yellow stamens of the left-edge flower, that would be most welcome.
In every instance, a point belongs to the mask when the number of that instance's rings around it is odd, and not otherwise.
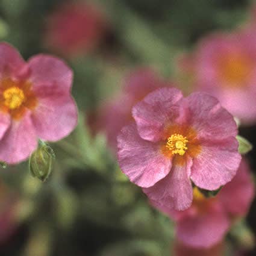
[[[19,120],[36,105],[37,98],[31,90],[31,83],[10,78],[0,80],[0,111],[10,113],[14,120]]]

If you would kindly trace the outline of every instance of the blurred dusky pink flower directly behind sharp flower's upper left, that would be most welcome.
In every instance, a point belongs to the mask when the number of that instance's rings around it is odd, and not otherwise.
[[[131,115],[132,107],[149,92],[169,85],[170,83],[161,80],[148,67],[140,67],[125,78],[125,84],[120,95],[104,104],[98,117],[100,130],[104,130],[107,134],[111,148],[116,149],[116,137],[122,127],[134,120]]]

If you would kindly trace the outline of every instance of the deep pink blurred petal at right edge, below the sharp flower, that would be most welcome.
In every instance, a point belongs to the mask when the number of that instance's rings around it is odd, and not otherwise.
[[[245,215],[255,195],[249,164],[242,159],[239,170],[234,179],[226,184],[218,194],[223,208],[233,215]]]

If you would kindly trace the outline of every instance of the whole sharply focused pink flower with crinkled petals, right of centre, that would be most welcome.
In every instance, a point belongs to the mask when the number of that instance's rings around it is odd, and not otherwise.
[[[191,180],[215,190],[236,175],[237,125],[217,99],[161,88],[133,107],[133,117],[117,138],[119,164],[152,201],[185,210],[192,204]]]

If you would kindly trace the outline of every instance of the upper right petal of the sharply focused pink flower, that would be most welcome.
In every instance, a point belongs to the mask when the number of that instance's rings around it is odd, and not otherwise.
[[[222,140],[237,135],[234,117],[216,98],[197,92],[192,93],[185,101],[189,108],[189,122],[196,130],[198,139]]]

